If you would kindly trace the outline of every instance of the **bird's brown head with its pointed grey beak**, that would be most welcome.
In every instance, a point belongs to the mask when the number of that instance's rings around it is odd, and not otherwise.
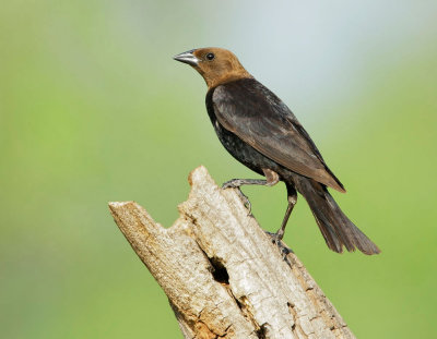
[[[209,88],[245,77],[252,77],[237,57],[223,48],[199,48],[177,55],[175,60],[188,63],[203,76]]]

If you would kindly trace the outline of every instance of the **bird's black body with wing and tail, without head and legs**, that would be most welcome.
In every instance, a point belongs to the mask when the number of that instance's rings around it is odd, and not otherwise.
[[[304,195],[331,250],[342,252],[344,245],[349,251],[354,251],[356,246],[366,254],[379,252],[378,247],[347,219],[329,194],[327,184],[339,191],[344,190],[343,185],[329,170],[308,133],[273,93],[255,78],[241,78],[211,88],[206,94],[205,104],[218,140],[234,158],[259,174],[263,174],[263,169],[276,172],[281,181]],[[282,133],[285,128],[287,130]],[[294,140],[288,145],[281,145],[281,141],[277,143],[275,138],[281,138],[290,129],[294,129]],[[279,133],[274,133],[275,130]],[[268,147],[263,148],[257,144],[259,140],[265,143],[265,138],[270,140],[267,143],[273,147],[288,148],[279,152],[273,149],[270,155],[269,150],[264,150]],[[258,146],[258,149],[251,145]],[[260,152],[260,148],[264,152]],[[284,153],[290,157],[300,158],[282,164],[271,158]],[[305,172],[308,162],[316,166]],[[295,169],[283,164],[294,165]],[[318,171],[314,170],[315,167]],[[317,179],[326,183],[320,183]]]

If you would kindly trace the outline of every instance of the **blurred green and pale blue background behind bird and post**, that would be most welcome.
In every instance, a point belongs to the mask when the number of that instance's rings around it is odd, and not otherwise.
[[[187,175],[255,178],[220,145],[205,85],[172,60],[232,49],[306,126],[382,250],[328,250],[300,197],[285,241],[358,338],[437,336],[436,1],[3,1],[0,337],[181,338],[115,226],[164,226]],[[247,187],[275,230],[285,189]]]

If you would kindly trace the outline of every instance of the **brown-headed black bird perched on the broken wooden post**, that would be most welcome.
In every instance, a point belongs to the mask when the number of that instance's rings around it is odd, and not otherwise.
[[[298,192],[307,201],[330,250],[380,253],[329,193],[328,187],[346,191],[295,114],[246,71],[233,52],[216,47],[197,48],[174,59],[192,66],[205,81],[206,111],[226,150],[265,178],[233,179],[222,187],[237,189],[250,214],[250,202],[240,191],[241,185],[285,183],[287,208],[280,229],[271,233],[273,242],[282,241]]]

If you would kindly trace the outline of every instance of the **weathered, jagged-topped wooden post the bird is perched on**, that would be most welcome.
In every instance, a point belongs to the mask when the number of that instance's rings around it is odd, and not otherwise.
[[[284,261],[247,215],[235,190],[221,190],[204,167],[189,182],[169,229],[134,202],[109,203],[185,338],[355,338],[296,255]]]

